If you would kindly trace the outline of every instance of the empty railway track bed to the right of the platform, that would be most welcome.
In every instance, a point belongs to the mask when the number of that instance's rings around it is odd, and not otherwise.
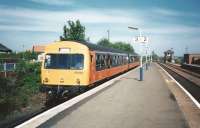
[[[173,64],[158,63],[200,103],[200,75]]]

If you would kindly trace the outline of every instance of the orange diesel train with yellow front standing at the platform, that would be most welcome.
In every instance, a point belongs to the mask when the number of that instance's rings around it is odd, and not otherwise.
[[[139,65],[138,56],[88,42],[59,41],[45,47],[42,90],[66,96]]]

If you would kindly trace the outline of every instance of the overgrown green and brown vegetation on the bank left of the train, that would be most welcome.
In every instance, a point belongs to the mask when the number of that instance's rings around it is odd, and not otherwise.
[[[0,58],[2,57],[18,61],[14,76],[0,77],[0,119],[5,120],[13,113],[26,111],[26,108],[32,109],[30,106],[40,104],[43,97],[39,92],[41,64],[30,61],[36,59],[35,53],[1,54]]]

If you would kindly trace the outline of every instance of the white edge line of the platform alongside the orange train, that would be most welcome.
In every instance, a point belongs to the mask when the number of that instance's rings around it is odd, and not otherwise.
[[[133,70],[136,70],[138,69],[139,66]],[[128,75],[132,70],[128,71],[127,73],[125,74],[122,74],[116,78],[113,78],[83,94],[80,94],[58,106],[55,106],[33,118],[31,118],[30,120],[16,126],[16,128],[35,128],[35,127],[38,127],[40,126],[41,124],[45,123],[46,121],[48,121],[49,119],[51,119],[52,117],[54,117],[55,115],[57,115],[58,113],[64,111],[64,110],[67,110],[68,108],[72,107],[73,105],[75,105],[76,103],[86,99],[87,97],[99,92],[100,90],[112,85],[115,81],[119,80],[120,78]]]

